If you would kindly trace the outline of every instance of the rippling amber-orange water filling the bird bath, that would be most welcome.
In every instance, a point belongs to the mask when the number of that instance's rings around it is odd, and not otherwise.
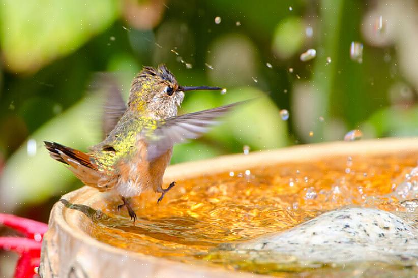
[[[337,256],[335,262],[332,262],[321,261],[319,257],[318,260],[298,258],[303,255],[291,253],[290,249],[277,248],[278,245],[296,244],[294,242],[268,242],[270,245],[267,246],[272,246],[268,250],[254,246],[259,246],[256,240],[263,239],[266,235],[273,238],[272,240],[278,237],[277,240],[280,241],[283,240],[280,239],[280,232],[300,233],[297,230],[300,229],[299,224],[327,211],[360,207],[393,213],[388,214],[390,221],[392,215],[395,217],[395,224],[390,224],[393,225],[390,227],[396,231],[402,229],[397,240],[405,239],[405,243],[415,248],[417,233],[413,199],[418,193],[418,169],[414,168],[417,166],[417,157],[418,152],[385,156],[340,156],[242,171],[228,170],[213,176],[177,180],[177,186],[166,195],[160,205],[156,203],[158,196],[153,194],[145,194],[136,200],[134,209],[138,220],[135,224],[125,215],[125,211],[115,211],[115,203],[111,201],[106,203],[102,211],[107,217],[99,218],[89,226],[87,232],[99,241],[134,252],[263,274],[306,272],[307,275],[321,275],[338,271],[347,274],[367,269],[371,271],[367,272],[369,275],[384,271],[408,275],[417,271],[418,249],[413,249],[408,254],[396,254],[399,256],[392,260],[391,246],[383,246],[382,252],[389,252],[387,260],[376,261],[371,256],[372,261],[368,262],[366,255],[359,257],[359,261],[355,260],[354,254],[354,259],[351,257],[344,261],[344,258]],[[115,198],[114,202],[117,201]],[[371,223],[377,220],[386,221],[385,214],[377,216],[379,211],[369,210],[365,215],[369,212],[372,213],[369,218]],[[331,223],[334,216],[327,216],[325,213],[316,222],[326,225],[326,218]],[[352,221],[344,225],[359,224],[355,221],[365,223],[364,219],[354,218]],[[397,226],[396,221],[400,221],[401,226]],[[379,226],[379,229],[382,229],[385,237],[390,237],[391,233],[386,231],[389,226],[383,226]],[[314,233],[321,232],[318,227],[308,228],[315,231]],[[373,230],[370,233],[375,232],[377,233]],[[293,238],[292,236],[290,237]],[[335,236],[345,235],[335,233]],[[378,234],[369,236],[374,238]],[[355,238],[347,246],[354,242],[364,248],[368,244],[364,239]],[[304,248],[308,248],[303,244],[295,246],[293,251],[304,251]],[[330,246],[330,249],[333,248]]]

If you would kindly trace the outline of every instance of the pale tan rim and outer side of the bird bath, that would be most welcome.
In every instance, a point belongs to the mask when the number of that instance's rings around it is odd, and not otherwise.
[[[166,170],[164,183],[205,174],[240,171],[283,162],[306,162],[335,156],[369,156],[412,150],[418,150],[418,138],[387,138],[299,145],[276,150],[255,151],[248,155],[227,155],[172,165]],[[100,202],[100,194],[103,193],[99,193],[93,188],[83,187],[62,198],[71,203],[95,207],[95,203]],[[84,273],[88,277],[123,276],[121,275],[122,267],[127,276],[133,273],[142,273],[144,277],[261,277],[261,275],[252,273],[228,271],[221,267],[190,265],[119,249],[88,235],[81,225],[85,225],[89,221],[86,215],[72,209],[65,209],[62,202],[54,205],[49,220],[50,229],[44,236],[42,246],[40,267],[42,277],[64,276],[72,272],[77,273],[77,271],[81,271],[79,273]],[[115,265],[111,267],[109,262],[113,262]]]

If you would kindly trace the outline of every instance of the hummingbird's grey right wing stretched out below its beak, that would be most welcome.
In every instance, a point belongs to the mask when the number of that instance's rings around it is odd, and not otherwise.
[[[148,161],[153,161],[160,157],[175,143],[200,137],[211,126],[218,123],[217,119],[241,103],[243,102],[175,116],[164,120],[150,121],[142,131],[148,143]]]

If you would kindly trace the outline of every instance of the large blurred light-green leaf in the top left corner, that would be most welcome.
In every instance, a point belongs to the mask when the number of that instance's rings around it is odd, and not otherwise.
[[[117,18],[117,0],[0,0],[0,44],[12,71],[35,71],[75,51]],[[103,46],[105,47],[105,46]]]

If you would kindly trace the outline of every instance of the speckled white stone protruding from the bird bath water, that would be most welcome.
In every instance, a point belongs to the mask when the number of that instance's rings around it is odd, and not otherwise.
[[[326,212],[285,232],[234,245],[231,252],[294,256],[298,262],[393,263],[418,257],[417,230],[396,215],[373,208]],[[274,263],[274,261],[273,261]]]

